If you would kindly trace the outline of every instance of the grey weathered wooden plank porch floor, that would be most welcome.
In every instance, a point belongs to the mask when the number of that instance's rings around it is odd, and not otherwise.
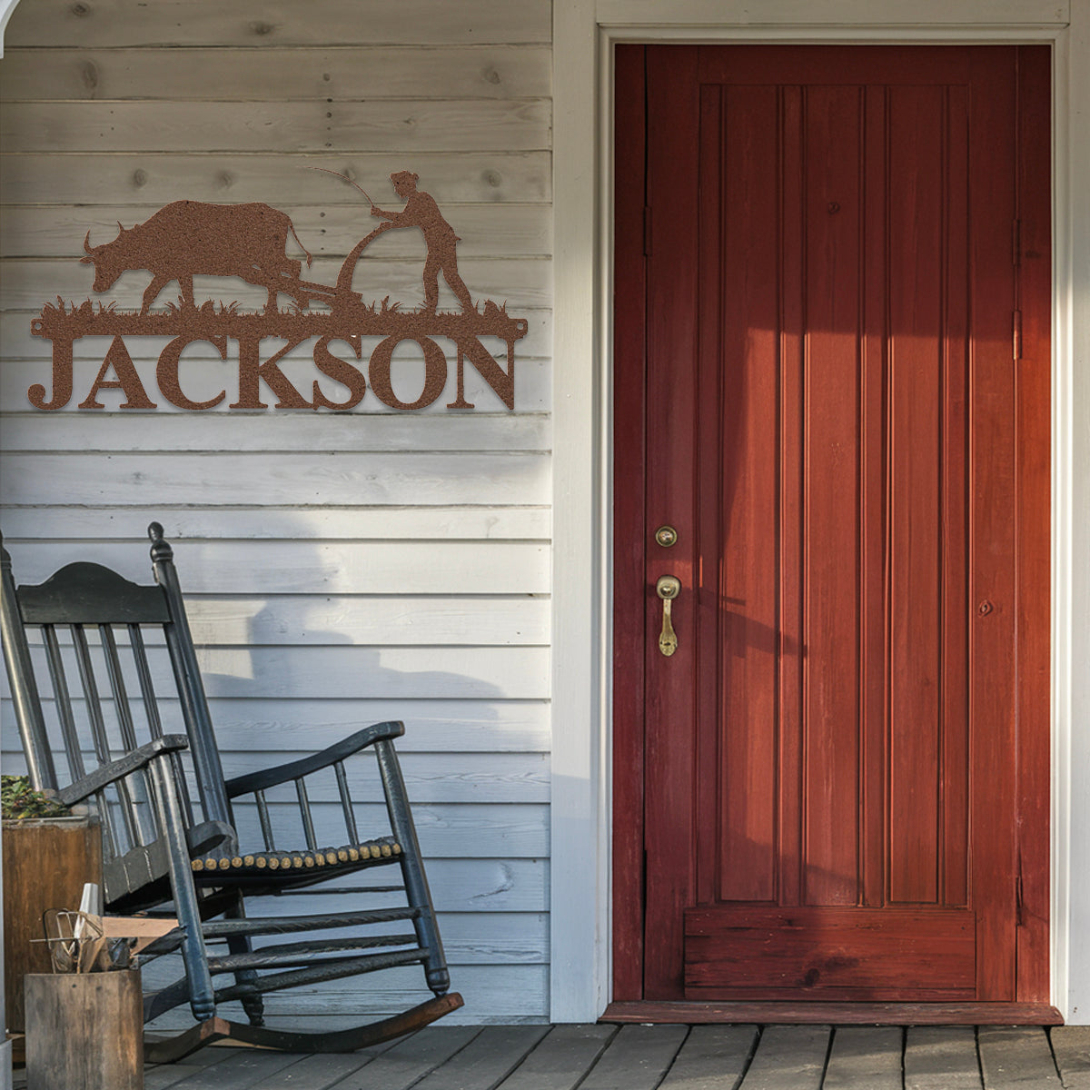
[[[1090,1090],[1090,1027],[432,1027],[350,1055],[209,1047],[146,1090]]]

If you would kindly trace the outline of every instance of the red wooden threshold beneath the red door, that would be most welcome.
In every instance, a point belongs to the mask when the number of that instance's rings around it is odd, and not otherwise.
[[[779,1022],[783,1025],[1063,1026],[1047,1003],[610,1003],[604,1022]]]

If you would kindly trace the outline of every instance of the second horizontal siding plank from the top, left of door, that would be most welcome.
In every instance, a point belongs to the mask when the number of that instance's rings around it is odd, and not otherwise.
[[[8,102],[546,98],[550,61],[550,50],[538,45],[9,48],[0,96]],[[205,78],[193,78],[198,70]]]

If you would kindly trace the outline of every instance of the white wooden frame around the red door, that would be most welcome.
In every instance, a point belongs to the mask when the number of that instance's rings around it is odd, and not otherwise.
[[[1052,1002],[1090,1022],[1090,0],[554,0],[552,1018],[610,998],[613,52],[1053,47]],[[986,13],[986,22],[981,21]]]

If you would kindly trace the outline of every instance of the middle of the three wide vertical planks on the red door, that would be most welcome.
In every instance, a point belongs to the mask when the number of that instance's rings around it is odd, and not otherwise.
[[[860,90],[804,93],[808,905],[853,905],[859,871]]]

